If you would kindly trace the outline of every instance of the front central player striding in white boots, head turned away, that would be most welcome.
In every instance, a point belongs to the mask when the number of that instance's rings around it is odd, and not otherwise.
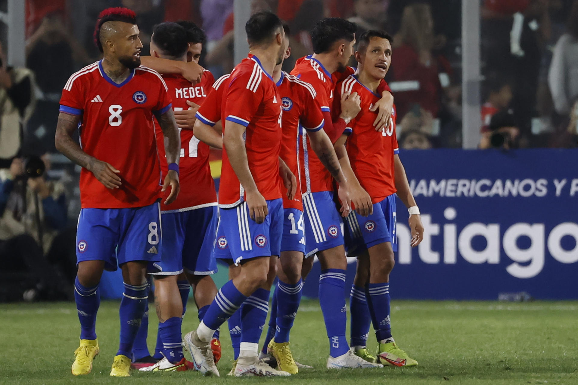
[[[249,57],[221,85],[225,87],[221,109],[223,168],[216,240],[241,268],[221,287],[197,330],[188,333],[184,341],[201,372],[218,375],[210,354],[210,338],[243,305],[242,323],[247,319],[262,322],[242,326],[235,376],[288,376],[260,362],[257,354],[260,327],[269,306],[270,261],[279,256],[281,247],[281,176],[291,174],[279,161],[281,96],[271,77],[283,60],[286,44],[283,25],[271,12],[253,14],[245,30]],[[253,313],[260,315],[255,317]]]

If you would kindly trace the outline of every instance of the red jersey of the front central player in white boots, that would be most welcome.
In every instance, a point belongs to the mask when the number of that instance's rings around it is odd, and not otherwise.
[[[257,189],[265,200],[281,198],[279,151],[283,110],[273,78],[262,68],[256,56],[249,55],[235,67],[221,87],[224,129],[225,121],[246,127],[243,137],[247,162]],[[243,201],[243,186],[229,162],[227,147],[223,145],[219,207],[231,208]]]

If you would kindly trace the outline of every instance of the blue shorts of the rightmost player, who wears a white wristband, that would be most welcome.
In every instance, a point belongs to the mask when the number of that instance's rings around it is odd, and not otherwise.
[[[361,216],[353,211],[347,216],[345,223],[347,256],[359,256],[371,246],[383,242],[391,242],[393,250],[397,251],[395,237],[397,215],[394,194],[373,204],[372,215]]]

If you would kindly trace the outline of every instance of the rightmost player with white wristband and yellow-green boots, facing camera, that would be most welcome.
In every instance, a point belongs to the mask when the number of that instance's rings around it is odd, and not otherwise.
[[[390,125],[375,132],[372,122],[375,113],[372,104],[379,100],[377,87],[386,75],[391,63],[391,37],[383,31],[368,31],[360,38],[355,52],[358,62],[355,74],[347,77],[336,88],[336,98],[356,92],[361,99],[361,111],[347,124],[344,134],[335,143],[348,180],[363,189],[368,207],[352,212],[346,220],[346,245],[349,256],[358,256],[357,275],[351,291],[353,301],[351,345],[356,354],[370,358],[365,348],[369,332],[369,320],[379,347],[377,358],[383,365],[414,366],[417,361],[399,349],[391,337],[389,278],[394,267],[395,240],[395,193],[408,207],[409,226],[412,231],[411,245],[423,240],[424,227],[420,212],[407,183],[405,169],[399,160],[399,148],[395,135],[395,107]],[[335,113],[339,105],[334,103]],[[349,159],[348,159],[349,156]],[[349,165],[350,163],[350,165]],[[355,322],[354,322],[355,320]]]

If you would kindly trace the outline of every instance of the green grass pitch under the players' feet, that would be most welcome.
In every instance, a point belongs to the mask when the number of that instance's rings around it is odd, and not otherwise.
[[[197,325],[196,318],[191,301],[184,332]],[[218,379],[198,372],[112,378],[118,302],[103,301],[97,322],[101,353],[90,375],[75,377],[70,368],[79,325],[73,303],[0,304],[0,384],[578,384],[578,302],[394,301],[391,319],[396,341],[418,367],[328,371],[319,305],[303,301],[291,346],[295,358],[314,369],[287,379],[227,377],[232,349],[224,330]],[[154,306],[150,320],[149,347],[154,347]],[[375,338],[369,341],[375,349]]]

